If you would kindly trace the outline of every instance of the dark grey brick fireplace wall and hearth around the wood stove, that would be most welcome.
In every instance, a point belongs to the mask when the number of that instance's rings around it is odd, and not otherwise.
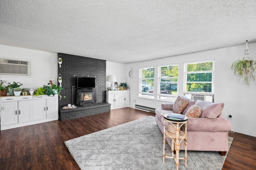
[[[62,100],[59,100],[59,119],[67,120],[87,115],[110,111],[110,104],[106,103],[106,61],[76,55],[58,53],[62,58],[62,65],[58,67],[58,74],[62,76]],[[96,78],[97,90],[93,92],[92,100],[83,96],[83,105],[76,102],[75,109],[62,109],[72,103],[73,88],[76,86],[76,77],[90,76]],[[79,91],[78,91],[79,92]],[[77,93],[77,92],[76,92]],[[66,96],[66,98],[63,98]]]

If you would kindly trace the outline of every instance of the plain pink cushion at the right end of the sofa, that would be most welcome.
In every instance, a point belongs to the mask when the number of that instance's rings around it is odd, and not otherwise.
[[[202,100],[197,100],[195,105],[201,107],[202,114],[201,117],[203,118],[216,118],[222,112],[224,107],[224,103],[212,103],[206,102]]]

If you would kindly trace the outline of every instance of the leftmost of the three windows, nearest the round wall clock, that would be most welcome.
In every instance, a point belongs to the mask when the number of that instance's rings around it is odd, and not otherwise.
[[[139,97],[154,99],[154,67],[140,68]]]

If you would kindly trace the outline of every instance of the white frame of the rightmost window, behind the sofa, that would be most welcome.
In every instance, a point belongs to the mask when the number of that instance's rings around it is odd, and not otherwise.
[[[187,71],[187,65],[188,64],[198,64],[198,63],[208,63],[212,62],[212,70],[208,71],[194,71],[194,72],[188,72]],[[207,82],[212,84],[212,92],[187,92],[186,91],[186,85],[187,83],[205,83],[205,82],[188,82],[187,81],[187,74],[196,74],[196,73],[207,73],[211,72],[212,73],[212,81]],[[203,95],[209,95],[209,96],[214,96],[214,60],[208,60],[208,61],[200,61],[200,62],[191,62],[191,63],[184,63],[184,89],[183,89],[184,94],[203,94]]]

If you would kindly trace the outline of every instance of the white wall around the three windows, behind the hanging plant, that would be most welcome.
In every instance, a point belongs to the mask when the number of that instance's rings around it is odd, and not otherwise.
[[[256,43],[248,44],[250,56],[256,59]],[[228,119],[228,115],[232,115],[232,131],[251,135],[256,137],[256,85],[250,87],[238,82],[233,76],[231,65],[237,59],[242,59],[246,45],[192,53],[188,55],[180,55],[176,57],[168,57],[165,59],[157,59],[153,61],[126,64],[126,80],[131,90],[131,102],[136,100],[136,104],[159,108],[162,101],[138,98],[139,91],[139,68],[155,66],[155,75],[157,75],[157,66],[179,63],[179,95],[183,94],[183,64],[186,62],[215,60],[215,92],[214,102],[224,103],[222,111],[223,118]],[[130,68],[135,71],[134,78],[128,78]],[[156,94],[155,94],[156,98]],[[134,106],[134,104],[133,104]]]

